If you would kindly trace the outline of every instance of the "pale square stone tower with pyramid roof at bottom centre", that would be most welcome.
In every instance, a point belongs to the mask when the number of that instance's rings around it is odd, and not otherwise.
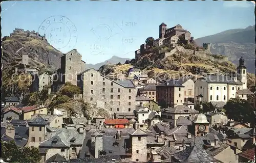
[[[141,129],[137,129],[131,134],[132,139],[132,161],[147,161],[147,134]]]

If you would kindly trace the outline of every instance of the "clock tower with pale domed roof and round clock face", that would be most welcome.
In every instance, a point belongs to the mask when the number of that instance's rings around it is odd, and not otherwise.
[[[209,133],[209,124],[204,114],[197,115],[193,121],[194,135],[196,137],[205,137]]]

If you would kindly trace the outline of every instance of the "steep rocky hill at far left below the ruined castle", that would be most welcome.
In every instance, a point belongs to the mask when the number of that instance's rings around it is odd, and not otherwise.
[[[51,46],[47,40],[35,36],[34,32],[15,32],[5,36],[2,40],[3,68],[11,63],[21,61],[23,54],[28,54],[32,67],[45,65],[50,69],[60,67],[60,56],[62,53]]]

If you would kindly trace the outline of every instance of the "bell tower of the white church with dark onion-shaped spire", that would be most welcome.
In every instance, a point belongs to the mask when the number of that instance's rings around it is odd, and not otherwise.
[[[243,55],[241,56],[239,60],[239,66],[237,67],[237,77],[240,82],[243,83],[243,90],[247,89],[247,72],[246,72],[246,66],[244,63]]]

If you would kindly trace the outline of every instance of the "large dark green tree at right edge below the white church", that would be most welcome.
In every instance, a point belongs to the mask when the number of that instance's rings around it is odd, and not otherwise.
[[[224,106],[228,119],[240,123],[250,123],[250,127],[255,127],[254,108],[247,100],[241,98],[231,98]]]

